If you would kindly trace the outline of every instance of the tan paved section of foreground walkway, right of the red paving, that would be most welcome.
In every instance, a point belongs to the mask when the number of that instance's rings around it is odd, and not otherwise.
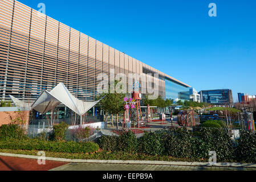
[[[154,164],[69,163],[51,171],[256,171],[245,167],[202,167]]]

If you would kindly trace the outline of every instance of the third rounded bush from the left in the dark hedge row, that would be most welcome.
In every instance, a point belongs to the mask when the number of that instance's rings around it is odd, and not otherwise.
[[[156,132],[148,133],[146,131],[143,137],[139,138],[138,143],[138,152],[141,154],[160,155],[164,150],[161,143],[161,134]]]

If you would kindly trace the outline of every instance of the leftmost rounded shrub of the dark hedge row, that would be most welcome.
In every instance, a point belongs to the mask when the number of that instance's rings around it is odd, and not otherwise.
[[[117,151],[117,142],[118,137],[107,135],[102,135],[96,140],[96,143],[99,144],[99,147],[105,151]]]

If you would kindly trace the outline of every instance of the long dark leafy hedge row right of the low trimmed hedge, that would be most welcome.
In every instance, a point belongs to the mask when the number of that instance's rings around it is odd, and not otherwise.
[[[235,159],[233,142],[224,129],[200,128],[198,136],[185,128],[146,132],[137,138],[132,132],[120,137],[102,136],[97,140],[102,150],[125,151],[146,155],[168,155],[174,158],[209,159],[209,151],[216,151],[218,161]]]

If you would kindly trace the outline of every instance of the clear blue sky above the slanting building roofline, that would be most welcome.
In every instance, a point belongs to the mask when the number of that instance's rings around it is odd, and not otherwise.
[[[19,0],[168,75],[256,95],[256,1]],[[208,15],[216,3],[217,17]]]

